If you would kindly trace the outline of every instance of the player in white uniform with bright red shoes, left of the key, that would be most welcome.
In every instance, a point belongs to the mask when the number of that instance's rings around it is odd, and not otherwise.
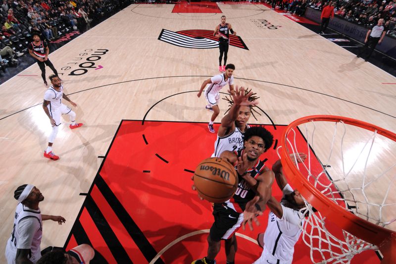
[[[82,126],[82,123],[76,123],[76,113],[72,111],[72,109],[68,106],[62,104],[62,99],[68,101],[72,106],[77,107],[77,104],[72,102],[64,93],[63,86],[61,85],[61,80],[57,75],[50,75],[49,80],[51,81],[52,86],[44,94],[44,103],[43,109],[46,112],[49,121],[52,126],[51,134],[49,135],[48,147],[47,150],[44,151],[44,157],[50,158],[53,160],[59,159],[52,152],[52,144],[55,140],[56,134],[58,133],[58,126],[60,123],[60,116],[62,114],[67,114],[70,118],[70,129],[75,129],[77,127]]]

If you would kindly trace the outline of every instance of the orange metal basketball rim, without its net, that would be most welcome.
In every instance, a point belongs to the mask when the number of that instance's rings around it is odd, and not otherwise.
[[[289,156],[287,148],[287,135],[298,125],[311,121],[327,121],[327,122],[344,122],[348,125],[357,126],[369,131],[377,131],[377,134],[387,137],[396,142],[396,134],[385,130],[376,125],[359,121],[352,118],[333,116],[333,115],[311,115],[299,118],[285,129],[281,138],[280,156],[282,165],[289,180],[303,197],[313,207],[321,212],[323,216],[330,219],[338,227],[344,229],[350,234],[365,240],[368,243],[377,245],[384,255],[381,264],[396,263],[396,232],[390,229],[378,226],[374,223],[366,221],[346,209],[338,206],[317,190],[305,176],[297,169],[294,162]]]

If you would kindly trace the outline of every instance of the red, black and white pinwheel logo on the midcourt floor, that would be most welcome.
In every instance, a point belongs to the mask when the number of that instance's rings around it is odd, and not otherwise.
[[[213,30],[205,29],[182,30],[177,32],[162,29],[158,40],[190,49],[213,49],[219,47],[218,38],[213,36]],[[249,50],[239,36],[230,35],[230,45]]]

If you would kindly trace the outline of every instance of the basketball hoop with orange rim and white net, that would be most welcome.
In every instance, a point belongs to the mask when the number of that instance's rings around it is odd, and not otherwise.
[[[296,141],[298,131],[305,143]],[[349,263],[365,250],[380,250],[382,264],[396,263],[395,133],[347,117],[313,115],[285,129],[278,152],[305,199],[302,211],[309,214],[301,229],[313,263]],[[303,163],[290,157],[299,152],[308,156]],[[332,225],[342,230],[330,232]]]

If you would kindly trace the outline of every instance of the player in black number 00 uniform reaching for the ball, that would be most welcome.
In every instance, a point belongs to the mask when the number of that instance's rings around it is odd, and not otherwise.
[[[245,132],[244,149],[224,151],[220,158],[235,165],[238,172],[238,188],[234,196],[222,203],[214,204],[214,223],[207,237],[208,250],[206,257],[193,261],[192,264],[215,264],[214,260],[220,251],[221,240],[225,240],[227,264],[234,264],[237,252],[235,232],[244,221],[246,204],[260,194],[260,203],[265,205],[271,197],[274,173],[259,158],[273,143],[272,134],[261,126],[250,127]],[[195,186],[193,185],[193,190]],[[263,196],[262,194],[265,194]],[[260,208],[263,211],[264,206]]]

